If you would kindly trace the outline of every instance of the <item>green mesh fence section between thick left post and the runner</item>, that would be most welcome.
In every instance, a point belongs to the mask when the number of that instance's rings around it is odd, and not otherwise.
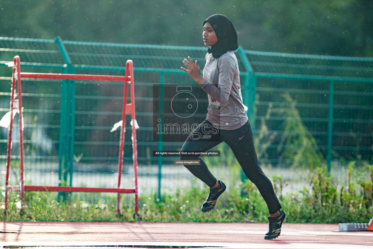
[[[201,47],[150,46],[112,43],[64,42],[77,74],[124,74],[126,60],[134,62],[135,108],[140,125],[137,130],[138,161],[141,165],[172,165],[177,157],[159,158],[153,156],[160,143],[153,141],[153,85],[154,84],[195,84],[181,71],[182,60],[191,56],[198,60],[201,68],[206,62],[206,49]],[[239,56],[238,56],[239,58]],[[75,65],[74,65],[75,64]],[[242,71],[244,66],[239,60]],[[129,95],[128,95],[129,96]],[[113,124],[121,120],[123,85],[121,83],[76,82],[75,146],[74,151],[82,154],[81,161],[74,163],[79,171],[112,171],[117,168],[120,130],[110,133]],[[207,102],[207,99],[204,98]],[[126,130],[130,134],[130,116],[127,116]],[[163,150],[179,150],[184,141],[163,141]],[[125,136],[124,172],[132,173],[131,136]],[[88,165],[88,166],[87,166]],[[169,168],[162,177],[172,175],[172,180],[184,177],[185,172],[175,175],[180,167]],[[141,171],[143,176],[157,175],[157,168]],[[159,175],[160,177],[160,175]],[[168,181],[169,182],[169,181]],[[124,184],[131,184],[125,181]],[[174,185],[175,186],[175,185]]]

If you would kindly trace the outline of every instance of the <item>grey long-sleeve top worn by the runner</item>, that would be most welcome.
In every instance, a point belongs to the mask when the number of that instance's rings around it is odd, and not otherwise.
[[[209,98],[206,119],[222,130],[235,130],[248,118],[242,103],[238,62],[232,50],[219,58],[206,54],[202,89]]]

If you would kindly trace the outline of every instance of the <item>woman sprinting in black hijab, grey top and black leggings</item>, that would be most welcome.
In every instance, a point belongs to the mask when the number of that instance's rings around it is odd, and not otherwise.
[[[183,60],[186,69],[181,69],[208,94],[207,117],[192,131],[181,150],[204,152],[225,141],[247,178],[257,186],[267,203],[270,214],[269,231],[264,239],[275,239],[280,236],[285,213],[281,210],[271,181],[258,165],[253,130],[242,103],[238,63],[233,53],[233,50],[238,48],[237,33],[232,22],[220,14],[207,18],[203,23],[203,42],[209,46],[203,77],[197,60],[193,62],[189,56],[189,60]],[[211,174],[199,156],[181,156],[180,159],[200,160],[201,165],[184,166],[210,187],[209,196],[201,207],[202,212],[209,212],[215,207],[217,198],[225,191],[225,184]]]

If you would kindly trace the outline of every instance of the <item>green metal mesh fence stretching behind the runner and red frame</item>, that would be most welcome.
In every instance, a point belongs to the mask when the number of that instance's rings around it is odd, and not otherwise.
[[[289,93],[329,167],[333,160],[372,163],[373,58],[256,52],[242,47],[235,53],[244,103],[249,107],[248,115],[256,136],[261,126],[259,121],[266,117],[268,107],[280,106],[284,102],[281,93]],[[152,151],[178,150],[183,142],[153,141],[152,86],[194,84],[181,71],[182,60],[191,56],[203,68],[205,54],[206,47],[91,43],[63,41],[59,37],[54,40],[0,37],[0,117],[9,111],[11,68],[4,63],[12,61],[15,55],[21,58],[23,72],[76,74],[123,75],[125,62],[131,59],[140,125],[139,164],[153,165],[144,174],[158,175],[159,188],[162,165],[172,164],[176,158],[155,158]],[[94,172],[105,174],[117,170],[119,131],[110,133],[110,130],[121,119],[123,84],[23,80],[22,89],[26,169],[44,172],[44,184],[50,181],[50,185],[56,184],[51,172],[58,171],[60,184],[74,185],[72,172],[89,176]],[[282,159],[283,148],[278,149],[284,118],[271,113],[265,120],[269,133],[277,134],[272,144],[258,144],[266,147],[265,162],[289,165],[291,161]],[[129,120],[126,127],[128,130]],[[15,137],[13,158],[19,155],[17,142]],[[2,171],[6,143],[7,129],[1,128]],[[129,136],[125,137],[124,160],[131,165]],[[130,167],[124,167],[123,171],[131,174]],[[35,178],[30,176],[29,181]],[[90,184],[94,186],[97,182]],[[105,186],[112,183],[107,184]]]

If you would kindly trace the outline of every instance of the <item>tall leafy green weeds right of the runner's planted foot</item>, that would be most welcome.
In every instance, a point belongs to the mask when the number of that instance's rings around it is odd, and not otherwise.
[[[348,165],[348,183],[338,186],[325,167],[316,168],[311,177],[311,190],[300,191],[301,199],[294,198],[288,222],[368,222],[373,215],[373,181],[354,179],[355,162]],[[371,170],[372,165],[367,165]],[[358,184],[355,185],[354,181]],[[289,199],[288,199],[289,200]]]

